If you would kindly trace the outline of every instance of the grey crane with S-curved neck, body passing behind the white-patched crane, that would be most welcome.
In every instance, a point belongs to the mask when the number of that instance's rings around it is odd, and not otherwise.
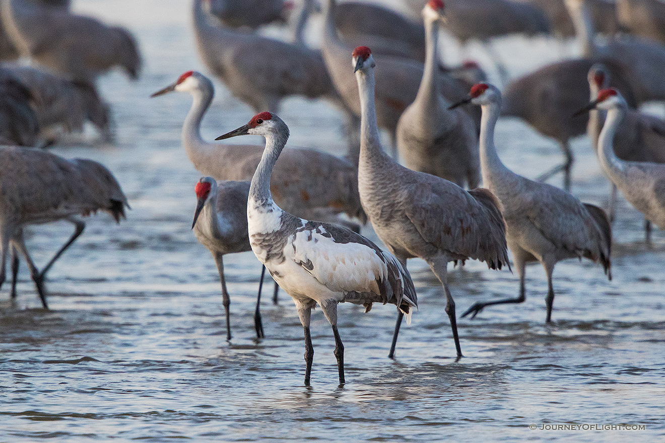
[[[251,179],[263,147],[208,143],[201,137],[201,120],[214,94],[209,78],[189,71],[153,96],[171,91],[188,92],[194,98],[182,126],[182,145],[194,167],[216,180]],[[303,217],[321,211],[346,213],[364,223],[357,177],[351,161],[315,149],[288,149],[277,161],[271,183],[275,200],[289,212]]]

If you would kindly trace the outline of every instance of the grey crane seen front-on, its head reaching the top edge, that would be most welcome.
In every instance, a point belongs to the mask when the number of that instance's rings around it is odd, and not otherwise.
[[[404,165],[473,189],[480,183],[478,135],[471,116],[439,94],[439,23],[445,19],[444,2],[430,0],[422,10],[427,56],[416,100],[397,125],[397,147]],[[366,48],[366,46],[359,46]],[[368,50],[368,48],[367,48]]]

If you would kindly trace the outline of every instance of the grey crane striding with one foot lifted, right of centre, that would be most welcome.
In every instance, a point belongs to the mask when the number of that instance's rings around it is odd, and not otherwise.
[[[537,261],[547,273],[545,302],[549,323],[554,302],[552,273],[557,262],[566,258],[589,258],[600,262],[611,280],[610,222],[599,207],[581,203],[563,189],[526,179],[503,165],[494,145],[494,128],[501,112],[501,92],[495,86],[477,84],[466,100],[454,106],[469,102],[480,105],[483,110],[480,130],[483,183],[503,205],[506,240],[519,275],[519,297],[475,303],[462,317],[470,313],[473,318],[483,308],[495,304],[524,302],[525,264]]]

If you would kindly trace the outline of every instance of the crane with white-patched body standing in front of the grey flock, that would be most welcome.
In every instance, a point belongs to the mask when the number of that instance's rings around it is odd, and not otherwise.
[[[289,138],[289,128],[275,114],[261,112],[248,124],[217,139],[255,134],[265,137],[265,151],[249,188],[249,242],[271,276],[295,302],[305,330],[305,385],[309,385],[314,349],[309,332],[317,304],[332,325],[339,382],[344,383],[344,345],[337,331],[337,304],[390,303],[408,315],[417,308],[416,290],[406,267],[352,230],[299,219],[275,204],[270,175]]]

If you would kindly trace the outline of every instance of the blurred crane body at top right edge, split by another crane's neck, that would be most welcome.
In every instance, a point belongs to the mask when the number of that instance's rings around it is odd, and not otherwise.
[[[531,3],[545,11],[554,35],[559,38],[575,37],[575,27],[564,0],[521,0]],[[606,0],[587,0],[589,13],[596,29],[602,35],[612,37],[619,29],[619,20],[614,11],[614,2]]]

